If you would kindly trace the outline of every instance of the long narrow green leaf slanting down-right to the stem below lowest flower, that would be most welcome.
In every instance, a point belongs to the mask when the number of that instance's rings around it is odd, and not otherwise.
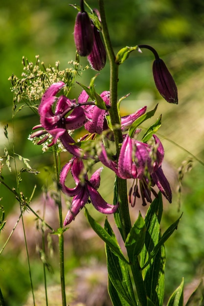
[[[123,262],[129,264],[129,262],[123,256],[119,244],[117,243],[117,240],[114,239],[112,236],[110,236],[109,233],[90,216],[86,207],[85,207],[85,216],[87,217],[92,229],[104,242],[106,242],[106,244],[111,248],[114,255],[119,257]]]

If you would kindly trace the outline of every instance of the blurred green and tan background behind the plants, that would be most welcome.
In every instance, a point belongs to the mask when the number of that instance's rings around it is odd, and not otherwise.
[[[27,197],[37,184],[34,200],[36,199],[40,205],[43,203],[42,184],[45,179],[47,182],[51,181],[49,171],[52,167],[52,156],[49,153],[42,154],[41,148],[27,140],[32,127],[38,124],[38,118],[30,109],[25,108],[19,112],[12,123],[13,95],[8,78],[12,73],[21,76],[23,55],[30,62],[35,62],[35,56],[39,55],[45,66],[54,66],[57,60],[60,61],[60,68],[68,66],[68,61],[75,58],[73,26],[76,16],[76,11],[68,4],[75,2],[77,1],[0,1],[0,155],[4,154],[4,147],[12,152],[14,137],[15,152],[29,158],[31,166],[41,172],[37,176],[22,175],[21,183],[22,191]],[[131,113],[144,105],[152,109],[156,103],[159,103],[157,116],[162,113],[162,127],[158,135],[165,148],[164,171],[171,181],[174,192],[172,204],[164,203],[163,230],[183,212],[178,231],[166,244],[166,295],[169,296],[181,283],[182,277],[185,284],[188,284],[204,276],[204,166],[198,161],[194,162],[192,171],[184,175],[181,208],[177,193],[178,168],[190,156],[188,152],[204,161],[204,1],[104,2],[115,52],[125,45],[152,45],[165,61],[178,85],[179,105],[170,105],[156,90],[152,75],[153,56],[148,50],[143,50],[142,54],[131,53],[130,58],[119,70],[119,97],[131,92],[131,95],[121,103],[122,114]],[[92,8],[98,5],[96,0],[90,0],[89,4]],[[81,63],[86,65],[86,59],[81,59]],[[109,63],[97,77],[98,92],[109,88],[108,71]],[[88,86],[90,78],[94,75],[95,72],[89,69],[79,81]],[[72,98],[77,97],[80,90],[76,86],[72,91]],[[9,142],[3,135],[3,125],[7,123]],[[9,181],[10,186],[15,187],[15,175],[10,174],[5,166],[2,175],[7,182]],[[105,182],[102,183],[100,192],[107,200],[112,201],[113,175],[105,171],[103,177]],[[0,198],[7,219],[4,231],[0,235],[1,249],[20,212],[15,198],[2,185]],[[33,205],[35,207],[35,204]],[[135,212],[131,210],[133,218],[138,209],[141,209],[140,206],[135,208]],[[94,211],[92,213],[99,220],[104,219]],[[73,222],[70,232],[66,233],[67,282],[73,287],[77,284],[73,281],[73,269],[94,264],[97,266],[98,262],[105,263],[103,245],[89,229],[83,212],[80,215],[80,222]],[[54,210],[52,216],[57,219]],[[38,234],[36,235],[35,218],[31,214],[25,218],[34,288],[37,289],[43,282],[42,265],[40,260],[36,260],[38,255],[35,253]],[[9,306],[23,305],[30,291],[20,226],[19,224],[13,240],[0,255],[0,288],[6,305]],[[94,243],[90,242],[92,239]],[[50,262],[54,270],[58,268],[55,250]],[[57,273],[49,275],[48,278],[49,284],[59,283]]]

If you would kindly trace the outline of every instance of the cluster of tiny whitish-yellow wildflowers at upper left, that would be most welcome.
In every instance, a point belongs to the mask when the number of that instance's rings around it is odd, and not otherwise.
[[[65,90],[69,91],[75,77],[81,75],[82,71],[87,69],[87,67],[83,68],[74,61],[68,62],[71,67],[63,70],[59,69],[59,61],[55,63],[55,67],[45,67],[44,62],[40,62],[39,55],[36,56],[35,64],[24,57],[22,64],[22,78],[18,78],[16,75],[9,78],[12,84],[11,91],[14,93],[14,110],[21,101],[34,106],[36,102],[41,100],[45,90],[53,83],[63,81],[67,85]]]

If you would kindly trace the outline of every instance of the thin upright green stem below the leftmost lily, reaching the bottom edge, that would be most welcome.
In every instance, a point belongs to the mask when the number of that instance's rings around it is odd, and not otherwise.
[[[57,153],[53,150],[54,157],[54,169],[55,169],[55,179],[58,185],[59,182],[59,167],[57,161]],[[66,306],[66,291],[65,291],[65,258],[64,258],[64,230],[63,230],[63,218],[62,218],[62,201],[61,201],[61,191],[57,188],[58,193],[58,212],[59,212],[59,260],[60,260],[60,281],[61,281],[61,294],[62,294],[62,306]]]

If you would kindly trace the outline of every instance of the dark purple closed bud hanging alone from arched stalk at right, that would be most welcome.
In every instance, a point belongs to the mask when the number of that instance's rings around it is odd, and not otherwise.
[[[169,103],[178,104],[177,86],[164,61],[160,58],[153,63],[153,75],[156,87],[162,97]]]

